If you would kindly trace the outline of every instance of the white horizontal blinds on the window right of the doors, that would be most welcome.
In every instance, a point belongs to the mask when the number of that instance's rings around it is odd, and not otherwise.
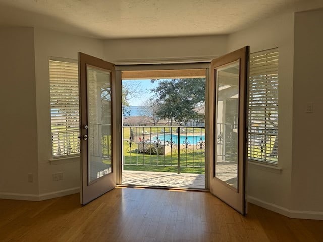
[[[278,161],[278,49],[250,55],[248,158]]]

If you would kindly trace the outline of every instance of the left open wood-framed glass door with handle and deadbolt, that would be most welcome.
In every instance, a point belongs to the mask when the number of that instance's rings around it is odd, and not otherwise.
[[[79,58],[81,204],[116,186],[112,114],[115,65],[83,53]]]

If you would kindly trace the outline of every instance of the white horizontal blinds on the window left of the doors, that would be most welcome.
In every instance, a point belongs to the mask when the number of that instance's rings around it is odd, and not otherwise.
[[[49,61],[52,156],[80,153],[77,63]]]

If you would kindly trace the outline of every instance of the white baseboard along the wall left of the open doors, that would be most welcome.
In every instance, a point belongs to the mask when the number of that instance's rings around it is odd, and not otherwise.
[[[1,199],[13,199],[13,200],[28,200],[28,201],[42,201],[51,198],[62,197],[74,193],[79,193],[80,187],[64,189],[60,191],[43,193],[43,194],[25,194],[25,193],[0,193]]]

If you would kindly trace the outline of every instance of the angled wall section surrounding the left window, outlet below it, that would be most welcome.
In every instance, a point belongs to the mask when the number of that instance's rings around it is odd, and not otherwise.
[[[59,196],[77,192],[80,186],[80,159],[50,162],[49,57],[77,59],[77,52],[103,58],[103,42],[44,29],[35,29],[39,194]],[[63,180],[52,181],[52,173],[63,172]]]

